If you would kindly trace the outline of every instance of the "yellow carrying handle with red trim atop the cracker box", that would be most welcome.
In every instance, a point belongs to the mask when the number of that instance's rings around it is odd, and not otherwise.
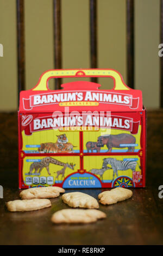
[[[114,69],[52,69],[45,71],[32,90],[49,90],[48,80],[66,77],[111,77],[114,90],[131,90],[123,81],[121,74]]]

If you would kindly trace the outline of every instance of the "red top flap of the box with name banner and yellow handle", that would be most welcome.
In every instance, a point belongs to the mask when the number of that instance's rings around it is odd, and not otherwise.
[[[60,90],[50,90],[50,78],[111,77],[114,88],[100,89],[101,84],[76,81],[62,84]],[[142,111],[142,92],[129,88],[119,72],[113,69],[65,69],[44,72],[33,89],[20,93],[22,112],[68,111]]]

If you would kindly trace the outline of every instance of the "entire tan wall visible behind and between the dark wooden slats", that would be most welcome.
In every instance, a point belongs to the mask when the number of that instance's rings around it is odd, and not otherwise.
[[[135,86],[147,107],[159,107],[159,2],[135,1]],[[52,0],[25,0],[27,89],[54,68],[52,7]],[[0,31],[0,111],[12,111],[17,109],[15,0],[0,0]],[[90,68],[89,40],[89,0],[62,0],[63,68]],[[98,67],[116,69],[126,81],[126,0],[98,0]],[[99,83],[113,85],[110,78]]]

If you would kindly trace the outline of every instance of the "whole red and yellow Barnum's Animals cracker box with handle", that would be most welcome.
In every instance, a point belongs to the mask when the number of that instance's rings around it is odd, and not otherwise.
[[[49,78],[111,77],[48,88]],[[20,94],[19,187],[144,187],[146,110],[140,90],[111,69],[49,70]]]

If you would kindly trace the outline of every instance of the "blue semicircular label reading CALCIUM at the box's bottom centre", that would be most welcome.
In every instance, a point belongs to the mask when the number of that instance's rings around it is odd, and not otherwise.
[[[101,182],[92,174],[74,173],[69,176],[64,184],[64,188],[91,188],[91,187],[102,187]]]

